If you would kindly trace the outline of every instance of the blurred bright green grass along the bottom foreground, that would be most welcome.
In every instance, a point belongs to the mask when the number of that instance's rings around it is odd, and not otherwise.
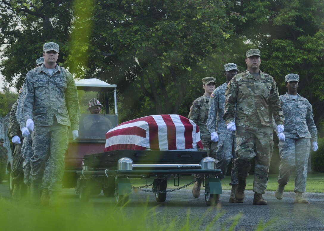
[[[114,203],[107,210],[96,210],[91,204],[76,204],[75,206],[42,207],[17,204],[11,200],[0,199],[0,230],[10,231],[146,231],[146,230],[234,230],[242,218],[242,214],[233,215],[223,222],[219,218],[226,214],[225,210],[217,207],[209,207],[201,216],[205,217],[212,210],[217,210],[214,218],[204,224],[201,217],[192,217],[190,209],[187,216],[169,217],[168,214],[156,212],[157,207],[148,208],[146,204],[141,208],[141,213],[132,208],[119,207]],[[137,211],[137,212],[136,212]],[[255,230],[264,230],[277,225],[277,219],[273,218],[264,223],[259,221]],[[203,228],[202,228],[203,227]],[[242,230],[242,229],[240,229]],[[244,230],[244,229],[243,229]]]

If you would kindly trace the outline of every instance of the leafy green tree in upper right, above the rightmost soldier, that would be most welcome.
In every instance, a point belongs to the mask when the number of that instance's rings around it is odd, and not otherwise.
[[[298,92],[313,105],[317,125],[324,118],[324,2],[321,0],[232,1],[245,20],[232,18],[235,33],[261,50],[261,70],[285,94],[284,76],[299,74]]]

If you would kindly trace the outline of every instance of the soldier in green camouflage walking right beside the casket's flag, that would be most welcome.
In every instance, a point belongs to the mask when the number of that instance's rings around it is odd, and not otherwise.
[[[200,138],[203,143],[203,149],[200,149],[201,151],[206,151],[207,155],[210,157],[213,157],[216,159],[216,144],[212,142],[210,139],[210,133],[207,129],[206,123],[207,123],[207,118],[208,118],[208,102],[210,99],[210,94],[213,93],[215,90],[215,78],[213,77],[206,77],[203,78],[203,89],[205,90],[205,94],[203,96],[195,99],[193,101],[191,107],[190,107],[190,112],[188,115],[188,118],[191,119],[193,122],[195,122],[200,131]],[[195,174],[195,178],[200,178],[200,174]],[[198,198],[200,195],[200,188],[201,188],[201,183],[202,181],[196,181],[195,184],[193,185],[192,189],[192,195],[195,198]]]

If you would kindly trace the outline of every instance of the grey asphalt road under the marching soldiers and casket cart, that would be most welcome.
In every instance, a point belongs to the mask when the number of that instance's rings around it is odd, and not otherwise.
[[[203,219],[201,229],[210,224],[215,216],[220,215],[212,230],[220,230],[221,226],[225,226],[227,230],[237,216],[240,218],[235,230],[255,230],[259,222],[266,224],[269,221],[272,221],[272,225],[268,227],[269,230],[324,230],[324,193],[306,193],[308,204],[294,204],[295,193],[285,193],[283,200],[277,200],[274,192],[267,192],[264,199],[268,201],[268,205],[259,206],[252,205],[253,192],[251,191],[246,191],[243,204],[228,203],[229,193],[230,191],[224,190],[219,204],[211,208],[206,206],[203,193],[200,198],[196,199],[192,197],[191,190],[182,189],[168,193],[164,203],[156,202],[153,193],[133,192],[125,209],[129,213],[141,213],[143,204],[148,198],[148,208],[156,207],[156,212],[167,214],[164,216],[166,221],[158,220],[161,224],[168,223],[175,218],[177,218],[177,224],[184,224],[188,210],[190,210],[191,222],[195,222],[197,218]],[[0,184],[1,196],[10,200],[6,184]],[[64,206],[82,206],[74,189],[64,189],[61,197]],[[101,193],[92,196],[88,203],[98,211],[104,211],[115,202],[114,198],[107,198]]]

